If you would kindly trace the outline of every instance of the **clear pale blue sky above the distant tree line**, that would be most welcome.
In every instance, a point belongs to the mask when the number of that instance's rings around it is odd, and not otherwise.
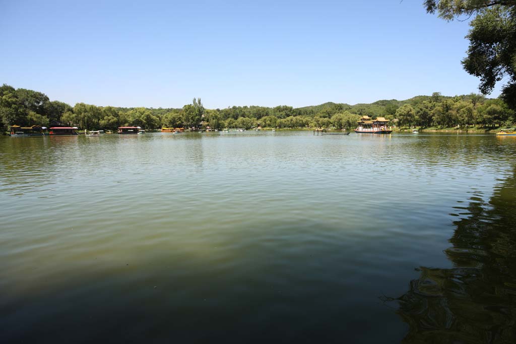
[[[460,64],[469,26],[422,3],[0,0],[0,83],[155,108],[478,92]]]

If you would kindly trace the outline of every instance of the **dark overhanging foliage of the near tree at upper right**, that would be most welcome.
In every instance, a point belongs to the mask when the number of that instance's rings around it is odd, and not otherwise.
[[[462,65],[480,78],[479,90],[485,94],[507,78],[502,98],[516,109],[516,0],[425,0],[424,4],[428,13],[437,11],[447,21],[476,14]]]

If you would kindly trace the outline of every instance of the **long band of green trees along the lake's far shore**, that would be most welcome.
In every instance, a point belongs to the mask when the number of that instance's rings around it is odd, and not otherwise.
[[[80,129],[111,129],[119,126],[212,128],[353,128],[360,117],[385,117],[399,127],[454,127],[514,125],[516,116],[502,99],[486,99],[480,94],[415,96],[409,100],[381,100],[371,104],[349,105],[325,103],[294,108],[292,106],[233,106],[205,109],[201,99],[177,108],[121,108],[50,101],[42,92],[0,87],[0,126],[41,125],[51,123],[77,126]]]

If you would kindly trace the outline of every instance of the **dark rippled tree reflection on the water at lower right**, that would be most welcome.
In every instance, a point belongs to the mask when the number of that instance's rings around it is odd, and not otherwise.
[[[422,267],[398,299],[404,343],[516,343],[516,170],[478,201],[454,222],[454,268]]]

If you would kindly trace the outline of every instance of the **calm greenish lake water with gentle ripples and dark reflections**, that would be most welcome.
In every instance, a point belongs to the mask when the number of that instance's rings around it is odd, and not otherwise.
[[[514,342],[515,138],[0,137],[0,342]]]

